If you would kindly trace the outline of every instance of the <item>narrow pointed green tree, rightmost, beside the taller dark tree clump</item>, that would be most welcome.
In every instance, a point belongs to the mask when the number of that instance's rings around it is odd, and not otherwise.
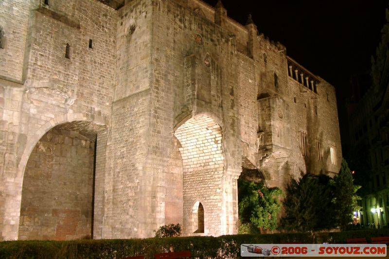
[[[335,220],[342,229],[346,229],[352,222],[351,215],[358,209],[357,201],[361,198],[356,195],[360,186],[354,186],[353,176],[345,159],[342,160],[340,171],[334,178],[334,185]]]

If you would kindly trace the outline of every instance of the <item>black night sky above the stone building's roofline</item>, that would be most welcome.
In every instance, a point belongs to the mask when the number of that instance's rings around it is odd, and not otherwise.
[[[217,0],[205,0],[214,6]],[[227,15],[280,41],[302,66],[336,87],[340,130],[347,136],[345,99],[352,74],[369,71],[381,40],[388,0],[222,0]]]

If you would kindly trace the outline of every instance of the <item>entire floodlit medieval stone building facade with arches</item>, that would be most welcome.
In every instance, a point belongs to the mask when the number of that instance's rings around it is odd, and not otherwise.
[[[233,234],[240,175],[341,157],[335,88],[221,2],[0,1],[1,240]]]

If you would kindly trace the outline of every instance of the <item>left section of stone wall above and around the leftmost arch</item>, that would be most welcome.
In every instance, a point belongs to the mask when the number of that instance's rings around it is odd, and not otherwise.
[[[94,134],[109,123],[116,11],[95,0],[1,5],[7,14],[0,25],[8,33],[0,49],[7,59],[0,64],[0,226],[1,238],[12,240],[18,238],[24,169],[40,138],[68,121],[84,121],[80,130]]]

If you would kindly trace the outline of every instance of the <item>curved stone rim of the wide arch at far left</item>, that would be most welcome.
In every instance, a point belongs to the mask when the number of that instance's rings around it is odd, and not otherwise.
[[[6,235],[3,236],[4,239],[16,240],[19,237],[18,230],[20,225],[24,174],[26,172],[27,162],[33,153],[33,150],[45,134],[50,132],[56,126],[61,124],[66,125],[67,123],[68,126],[73,126],[71,129],[72,131],[77,129],[82,131],[82,129],[84,129],[85,132],[94,132],[93,134],[96,134],[98,131],[106,128],[106,118],[104,117],[93,116],[87,113],[64,114],[47,121],[37,131],[35,131],[34,134],[28,136],[28,140],[18,162],[18,171],[15,180],[13,181],[13,186],[7,186],[5,189],[6,193],[9,195],[7,195],[4,204],[4,215],[6,216],[3,220],[3,226],[4,229],[7,230],[6,226],[8,225],[8,228],[12,229],[12,231],[6,231]],[[85,132],[81,133],[85,134]]]

